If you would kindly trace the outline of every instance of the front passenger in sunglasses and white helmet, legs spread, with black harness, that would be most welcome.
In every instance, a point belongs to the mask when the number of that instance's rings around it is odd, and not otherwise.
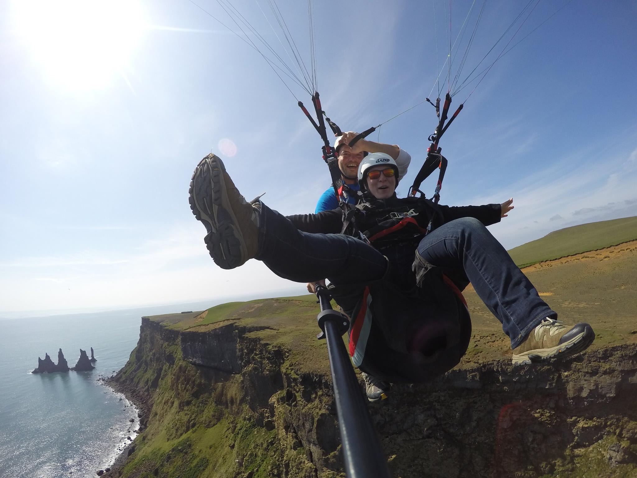
[[[387,154],[361,161],[358,179],[365,202],[356,206],[358,230],[350,228],[351,235],[339,233],[340,210],[285,217],[260,201],[246,203],[212,154],[197,166],[189,192],[220,267],[254,257],[285,279],[330,280],[352,319],[352,361],[376,380],[367,384],[370,400],[385,393],[383,382],[423,382],[457,365],[471,337],[459,293],[469,280],[503,324],[514,365],[568,356],[592,343],[589,324],[557,321],[485,228],[506,217],[513,199],[449,207],[396,198],[398,168]]]

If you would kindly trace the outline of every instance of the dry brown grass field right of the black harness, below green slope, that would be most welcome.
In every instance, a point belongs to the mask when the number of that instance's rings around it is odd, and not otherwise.
[[[596,333],[590,350],[637,342],[637,241],[522,269],[540,296],[566,324],[589,322]],[[499,322],[469,286],[473,337],[459,366],[511,354]]]

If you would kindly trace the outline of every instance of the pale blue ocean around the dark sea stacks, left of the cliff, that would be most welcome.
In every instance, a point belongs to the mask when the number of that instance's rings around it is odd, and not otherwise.
[[[125,365],[143,315],[216,303],[0,319],[0,477],[77,478],[110,466],[135,436],[137,410],[97,379]],[[90,347],[97,359],[90,372],[31,373],[45,352],[57,363],[61,348],[72,367]]]

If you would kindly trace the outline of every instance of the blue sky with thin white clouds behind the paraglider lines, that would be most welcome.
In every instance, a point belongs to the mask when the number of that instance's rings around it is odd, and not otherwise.
[[[217,2],[198,3],[231,24]],[[565,3],[540,2],[517,38]],[[283,54],[257,3],[233,4]],[[487,3],[464,72],[523,4]],[[452,3],[454,37],[469,5]],[[306,4],[279,6],[309,59]],[[266,62],[187,0],[54,7],[0,5],[0,311],[303,293],[258,261],[217,268],[187,201],[211,150],[245,196],[267,192],[285,214],[313,211],[329,185],[317,134]],[[318,91],[343,130],[429,95],[436,29],[439,64],[446,54],[444,8],[315,4]],[[510,217],[490,227],[507,249],[637,214],[636,19],[634,2],[572,1],[499,60],[441,140],[441,203],[513,196]],[[424,104],[371,136],[412,155],[403,195],[435,122]],[[424,189],[433,187],[432,177]]]

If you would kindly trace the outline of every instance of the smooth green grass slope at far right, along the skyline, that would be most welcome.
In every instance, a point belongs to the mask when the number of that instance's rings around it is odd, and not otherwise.
[[[520,267],[526,267],[541,261],[603,249],[635,239],[637,217],[624,217],[559,229],[541,239],[514,247],[508,252],[513,262]]]

